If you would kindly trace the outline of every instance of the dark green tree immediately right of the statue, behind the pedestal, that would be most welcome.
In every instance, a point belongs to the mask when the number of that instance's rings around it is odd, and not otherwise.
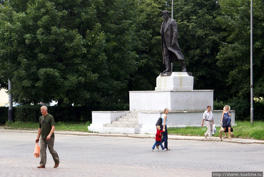
[[[185,56],[187,71],[193,72],[194,89],[214,90],[214,99],[224,100],[228,89],[226,69],[216,65],[221,44],[221,26],[216,18],[220,6],[213,0],[173,1],[173,19],[178,24],[178,43]],[[177,64],[176,70],[180,70]]]

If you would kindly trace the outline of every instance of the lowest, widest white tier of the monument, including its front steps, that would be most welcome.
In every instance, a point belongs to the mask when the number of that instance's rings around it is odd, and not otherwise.
[[[167,115],[167,127],[187,127],[195,126],[200,127],[203,118],[203,111],[169,111]],[[221,126],[222,110],[212,110],[214,114],[214,124],[217,127]],[[138,122],[135,128],[131,128],[131,124],[124,122],[123,124],[115,124],[120,115],[127,113],[136,114]],[[87,128],[92,132],[98,133],[125,133],[125,134],[138,134],[138,133],[156,133],[156,122],[162,115],[163,111],[92,111],[92,124]],[[111,116],[109,116],[111,115]],[[114,119],[114,117],[116,117]],[[107,123],[111,122],[113,126],[106,127]],[[231,111],[231,126],[235,124],[235,111]],[[206,128],[206,126],[204,125]],[[219,130],[220,128],[217,128]]]

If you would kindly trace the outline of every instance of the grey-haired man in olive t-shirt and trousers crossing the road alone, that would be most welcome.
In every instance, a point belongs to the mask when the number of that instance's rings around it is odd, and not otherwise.
[[[55,121],[53,116],[48,114],[47,106],[41,106],[40,111],[42,116],[39,118],[38,136],[35,140],[35,142],[38,143],[40,139],[40,166],[37,168],[45,168],[47,161],[47,146],[55,162],[54,168],[57,168],[59,166],[60,159],[57,152],[53,149]]]

